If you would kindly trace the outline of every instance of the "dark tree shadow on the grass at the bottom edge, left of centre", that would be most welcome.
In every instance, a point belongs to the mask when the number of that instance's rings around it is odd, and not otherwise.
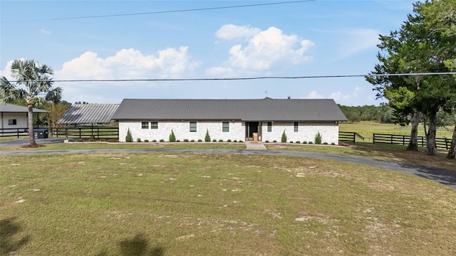
[[[119,242],[120,255],[123,256],[163,256],[165,255],[165,249],[157,246],[152,247],[150,250],[148,247],[148,241],[142,234],[135,235],[132,239],[125,239]],[[105,256],[107,252],[100,252],[97,256]]]

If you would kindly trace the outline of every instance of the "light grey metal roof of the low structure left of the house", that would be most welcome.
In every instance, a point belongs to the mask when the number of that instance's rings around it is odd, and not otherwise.
[[[118,104],[73,104],[58,124],[101,124],[111,121]]]

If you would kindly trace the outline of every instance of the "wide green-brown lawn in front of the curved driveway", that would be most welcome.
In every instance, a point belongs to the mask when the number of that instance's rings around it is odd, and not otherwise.
[[[284,156],[1,156],[0,255],[454,255],[456,191]]]

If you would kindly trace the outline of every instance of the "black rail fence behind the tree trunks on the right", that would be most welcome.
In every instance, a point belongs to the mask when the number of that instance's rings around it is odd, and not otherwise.
[[[399,144],[408,145],[410,135],[395,135],[395,134],[373,134],[373,143]],[[450,150],[451,139],[435,138],[435,147],[437,149]],[[418,146],[426,146],[426,138],[418,136]]]

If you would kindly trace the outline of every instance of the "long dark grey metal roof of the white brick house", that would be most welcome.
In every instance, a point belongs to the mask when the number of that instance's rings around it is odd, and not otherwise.
[[[116,120],[346,121],[334,100],[122,101]]]

